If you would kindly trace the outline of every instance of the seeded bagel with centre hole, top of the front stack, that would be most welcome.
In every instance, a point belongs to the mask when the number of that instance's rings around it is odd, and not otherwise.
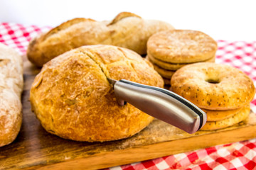
[[[171,91],[208,110],[241,108],[255,96],[250,77],[235,67],[211,62],[178,69],[171,78]]]

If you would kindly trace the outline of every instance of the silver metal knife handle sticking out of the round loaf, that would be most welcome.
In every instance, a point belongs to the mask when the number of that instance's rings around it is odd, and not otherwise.
[[[119,105],[123,106],[128,102],[144,113],[188,133],[200,130],[206,123],[206,113],[166,89],[122,79],[114,84],[114,94]]]

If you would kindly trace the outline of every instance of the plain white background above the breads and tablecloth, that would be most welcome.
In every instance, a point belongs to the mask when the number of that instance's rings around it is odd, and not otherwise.
[[[122,11],[201,30],[215,40],[256,41],[254,0],[0,0],[0,22],[25,25],[58,26],[76,17],[112,20]]]

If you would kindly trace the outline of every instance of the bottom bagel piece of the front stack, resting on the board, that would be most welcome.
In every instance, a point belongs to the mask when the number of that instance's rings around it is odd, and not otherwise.
[[[201,130],[218,130],[227,128],[229,126],[240,123],[242,120],[245,120],[250,114],[250,106],[245,106],[238,113],[233,115],[230,118],[226,118],[224,120],[214,121],[214,122],[206,122],[206,125],[201,128]]]

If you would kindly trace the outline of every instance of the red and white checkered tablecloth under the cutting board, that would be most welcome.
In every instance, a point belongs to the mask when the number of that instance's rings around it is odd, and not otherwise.
[[[47,26],[0,23],[0,42],[25,55],[29,40],[49,29],[50,27]],[[216,62],[241,69],[256,83],[256,40],[252,42],[218,40]],[[256,113],[256,99],[252,101],[251,106],[252,111]],[[256,169],[256,138],[109,169]]]

